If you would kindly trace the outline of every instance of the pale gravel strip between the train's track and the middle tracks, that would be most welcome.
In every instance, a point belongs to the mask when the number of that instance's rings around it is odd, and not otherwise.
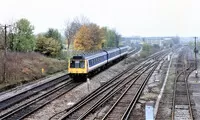
[[[48,120],[51,116],[56,113],[62,112],[63,110],[71,107],[74,103],[80,101],[84,96],[88,95],[95,89],[97,89],[102,81],[107,81],[129,66],[125,64],[125,60],[119,62],[118,64],[110,67],[109,69],[99,73],[90,80],[90,84],[87,82],[81,84],[80,86],[74,88],[69,93],[61,96],[50,104],[46,105],[39,111],[28,116],[25,120]]]

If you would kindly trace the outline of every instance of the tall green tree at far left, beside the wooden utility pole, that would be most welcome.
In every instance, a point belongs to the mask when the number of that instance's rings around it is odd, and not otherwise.
[[[14,27],[15,37],[13,39],[12,50],[16,51],[33,51],[35,49],[35,38],[33,35],[34,27],[27,19],[20,19]]]

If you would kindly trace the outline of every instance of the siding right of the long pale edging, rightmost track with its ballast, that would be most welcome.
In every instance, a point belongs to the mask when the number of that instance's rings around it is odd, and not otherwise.
[[[192,51],[187,47],[182,48],[178,54],[174,55],[170,69],[156,120],[193,120],[193,102],[187,83],[190,81],[188,75],[194,69]]]

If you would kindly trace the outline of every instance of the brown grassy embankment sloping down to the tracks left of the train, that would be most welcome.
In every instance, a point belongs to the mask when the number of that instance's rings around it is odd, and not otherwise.
[[[48,58],[36,52],[8,52],[6,81],[3,81],[3,60],[3,51],[0,51],[0,91],[67,69],[66,60]]]

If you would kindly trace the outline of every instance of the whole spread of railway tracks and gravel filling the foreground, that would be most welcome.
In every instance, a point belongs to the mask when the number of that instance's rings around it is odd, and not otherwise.
[[[0,119],[198,120],[194,53],[187,46],[177,48],[145,59],[137,59],[140,49],[134,50],[87,82],[61,73],[5,91],[0,94]],[[148,113],[147,105],[152,106]]]

